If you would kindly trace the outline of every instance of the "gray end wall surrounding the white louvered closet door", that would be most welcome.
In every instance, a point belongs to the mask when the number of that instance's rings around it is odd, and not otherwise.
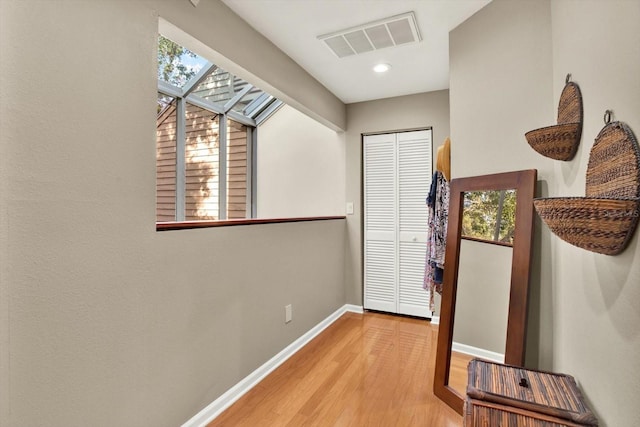
[[[362,134],[433,127],[434,153],[449,136],[449,91],[386,98],[347,105],[346,196],[354,202],[347,216],[345,284],[347,301],[362,305]],[[435,166],[435,165],[434,165]]]

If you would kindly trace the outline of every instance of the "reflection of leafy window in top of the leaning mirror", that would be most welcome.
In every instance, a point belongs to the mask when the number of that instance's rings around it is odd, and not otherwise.
[[[464,193],[462,238],[513,245],[516,190]]]

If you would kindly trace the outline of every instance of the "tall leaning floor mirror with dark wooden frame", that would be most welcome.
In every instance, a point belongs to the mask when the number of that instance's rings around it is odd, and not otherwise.
[[[524,363],[535,169],[451,181],[433,390],[463,412],[474,357]]]

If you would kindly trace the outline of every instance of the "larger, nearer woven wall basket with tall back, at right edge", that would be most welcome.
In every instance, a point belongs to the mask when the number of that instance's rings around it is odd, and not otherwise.
[[[538,215],[562,240],[605,255],[624,250],[640,216],[640,148],[631,128],[605,113],[589,154],[586,197],[536,199]]]

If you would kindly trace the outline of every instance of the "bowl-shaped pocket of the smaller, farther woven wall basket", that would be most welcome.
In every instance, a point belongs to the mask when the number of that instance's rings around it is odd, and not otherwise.
[[[538,153],[554,160],[571,160],[578,150],[582,123],[564,123],[535,129],[524,134]]]

